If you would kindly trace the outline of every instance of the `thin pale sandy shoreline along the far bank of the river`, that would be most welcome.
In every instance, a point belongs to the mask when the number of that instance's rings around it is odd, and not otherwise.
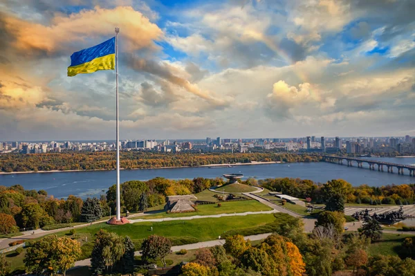
[[[210,164],[210,165],[200,165],[200,166],[176,166],[176,167],[149,167],[149,168],[134,168],[134,169],[124,169],[120,168],[120,170],[136,170],[136,169],[178,169],[182,167],[222,167],[222,166],[242,166],[242,165],[266,165],[266,164],[279,164],[284,163],[280,161],[271,161],[271,162],[253,162],[253,163],[234,163],[234,164]],[[0,174],[46,174],[46,173],[53,173],[53,172],[109,172],[115,171],[116,169],[68,169],[64,171],[60,171],[58,169],[53,169],[50,171],[29,171],[29,172],[0,172]]]

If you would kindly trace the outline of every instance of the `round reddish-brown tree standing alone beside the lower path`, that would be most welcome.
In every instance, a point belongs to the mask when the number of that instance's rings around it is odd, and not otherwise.
[[[165,257],[169,254],[171,248],[172,241],[165,237],[152,234],[147,239],[142,241],[142,258],[145,261],[160,258],[160,261],[164,264],[164,266],[166,266]]]

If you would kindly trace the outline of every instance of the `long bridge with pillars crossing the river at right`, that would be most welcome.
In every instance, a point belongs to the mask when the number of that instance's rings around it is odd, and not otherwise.
[[[357,163],[357,166],[363,168],[362,163],[369,164],[369,169],[375,170],[375,165],[378,166],[379,172],[384,172],[383,167],[387,167],[387,172],[393,174],[394,167],[398,169],[398,174],[403,174],[403,169],[409,170],[409,176],[415,176],[415,166],[413,165],[404,165],[404,164],[396,164],[396,163],[389,163],[383,162],[378,160],[367,160],[362,158],[355,158],[355,157],[343,157],[343,156],[332,156],[332,155],[322,155],[324,162],[330,163],[337,163],[339,165],[343,165],[343,160],[347,161],[347,167],[353,167],[353,163]]]

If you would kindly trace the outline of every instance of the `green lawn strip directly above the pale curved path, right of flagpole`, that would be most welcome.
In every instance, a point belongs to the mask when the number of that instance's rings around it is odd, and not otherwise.
[[[211,214],[232,214],[232,213],[243,213],[243,212],[260,212],[273,210],[272,208],[264,205],[255,200],[244,200],[244,201],[221,201],[221,207],[217,207],[217,204],[202,204],[196,205],[197,212],[187,213],[174,213],[169,214],[162,212],[158,214],[149,214],[140,219],[163,219],[166,217],[192,217],[192,216],[208,216]]]

